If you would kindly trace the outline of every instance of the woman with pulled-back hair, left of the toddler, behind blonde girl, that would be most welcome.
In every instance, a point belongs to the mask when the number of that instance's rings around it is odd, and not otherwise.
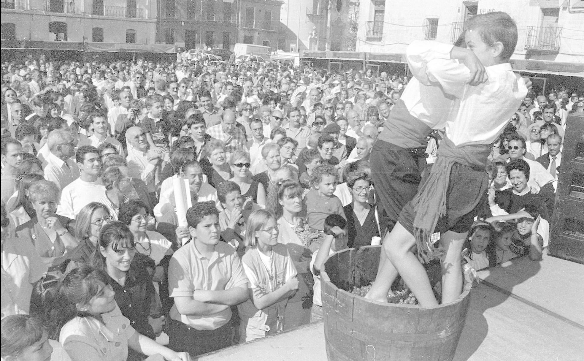
[[[311,286],[308,282],[312,275],[308,270],[312,252],[318,249],[318,242],[310,247],[312,239],[317,234],[304,231],[302,211],[303,188],[293,180],[284,180],[274,185],[268,195],[266,208],[274,213],[277,219],[278,243],[286,245],[290,258],[298,272],[298,291],[288,300],[286,308],[286,329],[310,322],[310,307],[303,307],[303,301],[310,298]],[[302,235],[302,239],[301,239]]]

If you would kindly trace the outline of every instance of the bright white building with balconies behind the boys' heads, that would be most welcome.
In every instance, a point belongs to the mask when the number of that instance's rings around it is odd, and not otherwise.
[[[517,23],[512,60],[584,63],[583,0],[363,0],[356,50],[403,54],[413,40],[453,43],[470,16],[493,11]]]

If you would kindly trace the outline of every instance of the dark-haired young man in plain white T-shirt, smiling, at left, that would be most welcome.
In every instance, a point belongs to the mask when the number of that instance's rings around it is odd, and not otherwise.
[[[102,169],[99,151],[91,145],[84,145],[77,150],[75,160],[81,174],[62,190],[57,211],[57,214],[72,219],[87,204],[99,202],[106,194],[99,179]]]

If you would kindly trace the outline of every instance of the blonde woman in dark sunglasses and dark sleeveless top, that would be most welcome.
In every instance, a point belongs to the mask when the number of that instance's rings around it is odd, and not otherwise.
[[[262,183],[253,179],[249,172],[249,167],[251,166],[249,154],[240,150],[235,151],[231,155],[229,165],[233,173],[230,180],[239,186],[243,199],[251,199],[253,203],[260,204],[261,206],[265,205],[266,189],[263,188]]]

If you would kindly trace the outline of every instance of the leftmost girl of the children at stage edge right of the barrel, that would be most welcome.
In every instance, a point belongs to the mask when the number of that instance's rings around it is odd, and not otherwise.
[[[463,262],[468,263],[474,270],[489,266],[489,257],[486,249],[495,235],[495,228],[485,221],[475,221],[472,224],[467,245],[463,250]]]

